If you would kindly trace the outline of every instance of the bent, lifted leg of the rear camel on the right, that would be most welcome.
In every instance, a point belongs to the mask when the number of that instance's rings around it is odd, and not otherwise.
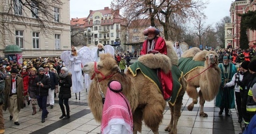
[[[198,93],[195,87],[187,85],[187,93],[188,96],[193,99],[193,101],[188,105],[188,110],[192,111],[194,109],[194,104],[197,104],[197,98],[198,98]]]

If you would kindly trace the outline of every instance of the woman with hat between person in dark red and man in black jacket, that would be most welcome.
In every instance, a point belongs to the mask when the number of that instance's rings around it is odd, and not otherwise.
[[[34,78],[36,78],[36,76],[37,76],[37,70],[36,68],[32,68],[31,73],[29,75],[29,82],[28,82],[28,92],[29,92],[29,97],[31,98],[32,109],[33,109],[32,115],[37,113],[36,105],[38,104],[37,97],[36,97],[37,87],[33,86]]]

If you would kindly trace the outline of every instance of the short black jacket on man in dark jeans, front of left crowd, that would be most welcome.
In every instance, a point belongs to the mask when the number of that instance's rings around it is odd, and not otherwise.
[[[41,82],[43,84],[43,87],[38,86],[37,83]],[[34,87],[37,87],[36,95],[38,96],[48,96],[49,88],[51,88],[51,80],[49,76],[43,74],[42,76],[39,75],[36,78],[34,78]],[[54,86],[55,88],[55,86]]]

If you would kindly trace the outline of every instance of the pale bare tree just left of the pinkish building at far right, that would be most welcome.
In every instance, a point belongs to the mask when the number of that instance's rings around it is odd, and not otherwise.
[[[231,18],[229,16],[224,17],[222,20],[216,23],[216,33],[218,41],[221,46],[225,46],[225,23],[230,23]]]

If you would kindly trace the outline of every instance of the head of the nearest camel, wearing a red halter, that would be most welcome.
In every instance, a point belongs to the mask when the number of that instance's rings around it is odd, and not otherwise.
[[[102,79],[119,71],[118,63],[110,53],[102,53],[99,62],[89,62],[82,69],[91,77]],[[95,75],[95,76],[94,76]]]

